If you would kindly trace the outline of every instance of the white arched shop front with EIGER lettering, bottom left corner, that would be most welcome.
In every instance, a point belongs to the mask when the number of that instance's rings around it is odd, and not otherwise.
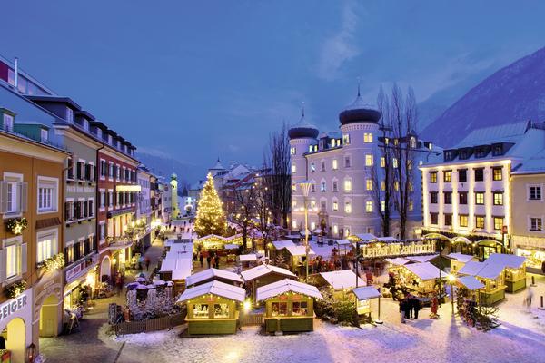
[[[11,358],[14,363],[24,363],[27,347],[33,342],[37,344],[33,341],[37,340],[33,339],[33,292],[33,289],[26,289],[0,304],[0,332],[5,342],[0,357],[6,361]]]

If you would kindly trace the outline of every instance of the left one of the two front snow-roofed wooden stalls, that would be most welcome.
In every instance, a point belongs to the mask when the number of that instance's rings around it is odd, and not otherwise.
[[[178,304],[187,306],[187,333],[192,335],[234,334],[244,289],[213,280],[186,289]]]

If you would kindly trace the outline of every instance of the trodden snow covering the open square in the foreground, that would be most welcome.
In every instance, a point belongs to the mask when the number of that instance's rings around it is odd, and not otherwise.
[[[430,311],[423,309],[421,319],[401,324],[397,304],[382,299],[384,324],[377,327],[342,328],[315,320],[313,332],[282,337],[264,336],[259,328],[247,327],[233,336],[180,338],[178,327],[115,340],[125,342],[119,362],[149,358],[157,363],[545,361],[545,313],[526,312],[524,297],[524,292],[508,295],[500,306],[502,325],[490,332],[470,329],[459,318],[452,319],[450,303],[442,306],[441,319],[428,319]],[[376,311],[376,300],[374,303]],[[112,339],[104,334],[100,338]]]

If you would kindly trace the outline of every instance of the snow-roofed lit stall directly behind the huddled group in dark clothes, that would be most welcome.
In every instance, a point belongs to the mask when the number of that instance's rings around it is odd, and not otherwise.
[[[400,270],[401,284],[411,289],[419,298],[430,298],[435,294],[435,283],[446,279],[447,274],[430,262],[409,263]]]

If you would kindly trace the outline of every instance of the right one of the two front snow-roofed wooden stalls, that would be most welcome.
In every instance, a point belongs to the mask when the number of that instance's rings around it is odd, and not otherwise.
[[[312,331],[314,299],[323,299],[316,287],[290,279],[257,289],[257,301],[265,302],[265,331]]]

